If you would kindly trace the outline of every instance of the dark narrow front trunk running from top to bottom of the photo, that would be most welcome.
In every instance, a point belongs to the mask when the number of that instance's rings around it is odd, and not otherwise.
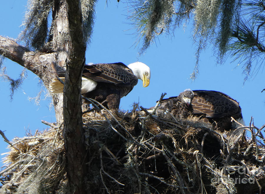
[[[85,63],[85,40],[80,0],[67,0],[69,21],[69,61],[64,84],[64,147],[71,193],[86,193],[86,149],[81,109],[81,76]],[[71,16],[71,17],[70,17]]]

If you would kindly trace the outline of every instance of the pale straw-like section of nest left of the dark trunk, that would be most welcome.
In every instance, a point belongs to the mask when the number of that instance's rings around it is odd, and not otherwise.
[[[16,137],[0,172],[0,193],[44,193],[53,190],[64,175],[64,143],[60,127]],[[52,181],[51,181],[52,180]]]

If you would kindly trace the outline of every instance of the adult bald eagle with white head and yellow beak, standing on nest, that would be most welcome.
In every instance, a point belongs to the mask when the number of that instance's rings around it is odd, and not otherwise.
[[[143,81],[143,87],[147,87],[150,76],[150,68],[142,62],[128,66],[121,62],[84,65],[81,94],[97,100],[108,109],[116,109],[119,108],[120,98],[133,89],[138,79]],[[59,77],[64,81],[64,76]],[[63,87],[57,79],[49,85],[52,93],[63,92]]]

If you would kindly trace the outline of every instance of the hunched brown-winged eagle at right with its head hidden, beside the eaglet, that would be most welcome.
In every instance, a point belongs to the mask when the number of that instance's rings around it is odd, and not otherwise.
[[[211,123],[221,131],[238,127],[234,122],[231,122],[231,117],[244,125],[241,107],[239,103],[230,96],[213,90],[192,90],[192,92],[193,99],[189,109],[192,115],[200,117],[203,122]],[[180,108],[175,108],[176,105],[173,105],[177,99],[179,99],[177,96],[170,97],[168,99],[163,99],[161,103],[162,106],[163,103],[169,104],[169,106],[167,106],[168,111],[174,116],[177,113],[183,114]],[[182,109],[186,111],[186,105],[183,106]],[[177,115],[177,117],[179,116]]]

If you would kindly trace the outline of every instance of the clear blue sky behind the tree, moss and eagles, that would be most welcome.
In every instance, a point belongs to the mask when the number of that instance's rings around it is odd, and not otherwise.
[[[9,0],[1,2],[0,6],[0,35],[16,38],[21,31],[26,0]],[[191,82],[189,75],[192,73],[195,59],[196,46],[192,39],[192,21],[176,29],[174,36],[160,35],[143,54],[138,54],[138,47],[134,46],[137,36],[133,26],[127,24],[126,15],[129,15],[126,4],[117,1],[99,1],[96,8],[96,19],[91,44],[87,47],[86,62],[111,63],[123,62],[130,64],[140,61],[151,69],[150,85],[142,87],[142,82],[126,97],[123,97],[120,108],[130,110],[133,102],[140,102],[143,107],[152,107],[160,98],[162,92],[165,97],[176,96],[184,89],[206,89],[221,91],[240,102],[246,124],[254,117],[254,124],[261,127],[265,124],[264,100],[265,76],[261,71],[253,79],[244,81],[242,64],[227,59],[223,65],[216,65],[211,49],[202,52],[200,58],[200,74]],[[9,59],[4,61],[6,72],[13,79],[19,77],[23,68]],[[27,71],[27,79],[10,100],[10,86],[0,78],[1,130],[9,140],[15,136],[22,137],[25,130],[32,133],[36,129],[47,128],[41,120],[55,122],[53,107],[50,110],[50,100],[41,100],[40,105],[35,105],[28,98],[36,97],[44,88],[38,83],[39,79],[32,72]],[[44,89],[44,93],[46,93]],[[44,99],[44,95],[42,95]],[[7,143],[0,137],[0,153],[7,152]]]

